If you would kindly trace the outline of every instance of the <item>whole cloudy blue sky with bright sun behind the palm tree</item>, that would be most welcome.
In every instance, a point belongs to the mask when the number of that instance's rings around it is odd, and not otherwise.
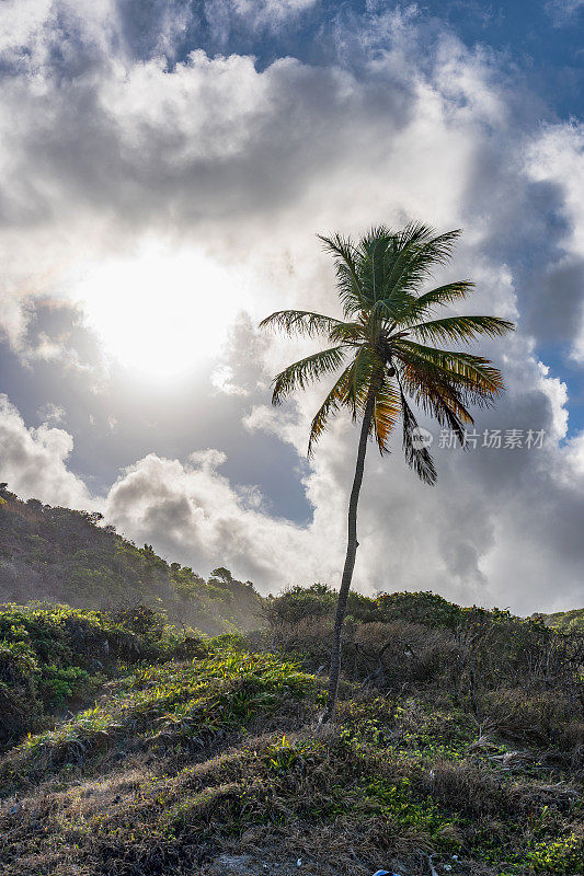
[[[357,431],[307,461],[328,388],[270,384],[314,342],[257,324],[339,313],[318,233],[460,228],[435,284],[516,322],[481,347],[506,393],[467,452],[421,420],[435,487],[369,448],[354,584],[582,607],[583,35],[584,0],[3,0],[0,480],[203,575],[337,585]]]

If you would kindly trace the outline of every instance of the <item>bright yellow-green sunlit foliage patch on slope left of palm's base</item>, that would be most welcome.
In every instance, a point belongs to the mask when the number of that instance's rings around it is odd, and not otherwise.
[[[87,758],[131,739],[157,749],[197,749],[226,731],[244,730],[314,689],[314,679],[271,654],[247,654],[209,639],[207,656],[187,664],[149,665],[121,679],[107,702],[79,712],[15,749],[19,772],[30,775]],[[13,780],[10,779],[12,782]]]

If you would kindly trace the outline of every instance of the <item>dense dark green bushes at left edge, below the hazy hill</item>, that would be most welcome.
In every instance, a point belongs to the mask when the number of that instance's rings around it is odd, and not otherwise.
[[[87,699],[121,666],[201,653],[152,609],[117,614],[68,606],[0,609],[0,745],[38,729]]]

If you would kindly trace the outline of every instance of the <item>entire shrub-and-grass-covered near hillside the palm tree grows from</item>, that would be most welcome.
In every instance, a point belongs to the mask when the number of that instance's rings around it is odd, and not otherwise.
[[[271,600],[263,638],[0,613],[4,715],[20,698],[2,873],[584,873],[582,636],[432,593],[355,598],[339,723],[319,728],[331,596]],[[89,690],[55,723],[64,679]]]

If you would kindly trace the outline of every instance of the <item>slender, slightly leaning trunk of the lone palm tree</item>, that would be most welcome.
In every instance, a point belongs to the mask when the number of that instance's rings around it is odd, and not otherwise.
[[[345,620],[346,600],[351,589],[353,569],[355,567],[355,556],[357,554],[357,503],[359,499],[360,485],[363,483],[363,471],[365,468],[365,453],[367,451],[367,438],[371,425],[371,416],[375,404],[375,388],[371,385],[365,405],[363,425],[360,427],[359,448],[357,450],[357,463],[355,465],[355,477],[353,489],[348,500],[348,537],[346,545],[345,565],[341,579],[341,589],[336,602],[336,616],[334,619],[333,646],[331,652],[331,675],[329,679],[329,695],[327,699],[327,719],[334,718],[336,706],[336,694],[339,691],[339,673],[341,671],[341,636],[343,632],[343,621]]]

